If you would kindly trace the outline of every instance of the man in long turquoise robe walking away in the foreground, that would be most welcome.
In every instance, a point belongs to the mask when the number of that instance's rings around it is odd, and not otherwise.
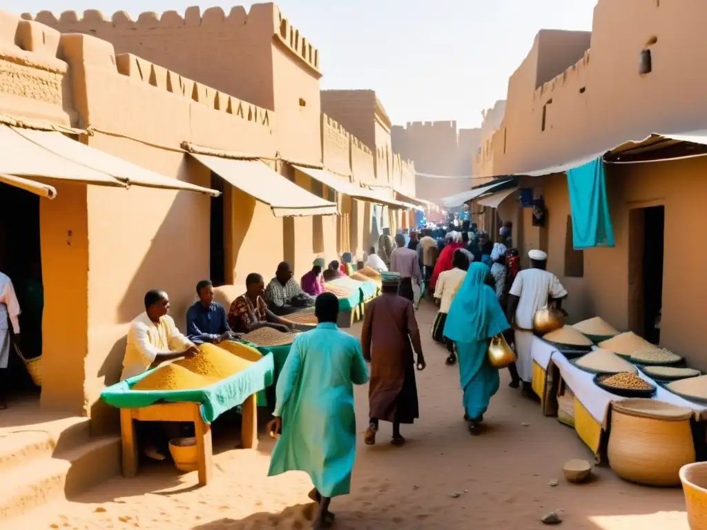
[[[319,503],[314,528],[329,526],[332,497],[351,491],[356,454],[354,384],[368,381],[358,339],[337,327],[339,299],[322,293],[315,302],[316,329],[295,338],[276,387],[269,432],[275,444],[268,475],[305,471]]]

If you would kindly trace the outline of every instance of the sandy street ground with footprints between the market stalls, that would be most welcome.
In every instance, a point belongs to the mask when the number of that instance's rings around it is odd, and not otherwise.
[[[544,418],[538,404],[506,385],[486,414],[488,429],[467,433],[462,420],[457,367],[444,364],[444,348],[429,338],[434,317],[422,305],[428,368],[418,375],[420,420],[388,443],[382,423],[378,444],[359,438],[351,495],[334,499],[338,529],[540,529],[556,510],[561,526],[574,530],[687,530],[682,491],[625,483],[607,468],[595,479],[572,485],[562,478],[569,458],[591,459],[575,432]],[[351,333],[358,333],[354,327]],[[358,431],[367,423],[367,387],[356,391]],[[523,424],[527,423],[527,426]],[[71,502],[48,505],[4,529],[300,529],[310,526],[312,487],[303,473],[267,478],[272,440],[262,435],[255,451],[216,455],[214,481],[197,485],[196,473],[180,476],[171,464],[116,477]],[[559,479],[551,487],[549,481]]]

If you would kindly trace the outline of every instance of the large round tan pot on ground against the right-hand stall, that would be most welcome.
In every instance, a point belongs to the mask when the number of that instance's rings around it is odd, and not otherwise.
[[[654,399],[612,402],[609,466],[626,481],[654,486],[680,483],[695,461],[689,408]]]

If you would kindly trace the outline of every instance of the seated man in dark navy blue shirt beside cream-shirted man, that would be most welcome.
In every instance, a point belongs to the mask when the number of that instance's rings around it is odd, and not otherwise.
[[[187,338],[190,341],[194,344],[218,344],[242,335],[231,331],[226,310],[223,305],[214,302],[214,284],[211,280],[197,283],[197,295],[199,302],[187,310]]]

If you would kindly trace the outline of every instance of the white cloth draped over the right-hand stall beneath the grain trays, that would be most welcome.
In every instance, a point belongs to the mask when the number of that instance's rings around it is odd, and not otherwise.
[[[576,367],[569,360],[562,355],[559,351],[555,351],[552,354],[552,362],[560,370],[560,375],[562,379],[567,383],[577,397],[577,399],[583,404],[587,411],[592,415],[592,418],[600,423],[604,423],[607,416],[607,411],[609,403],[611,401],[622,401],[626,398],[617,396],[616,394],[611,394],[606,390],[597,387],[594,383],[594,374],[590,372],[585,372],[581,368]],[[654,384],[658,388],[656,391],[654,399],[659,401],[665,401],[676,406],[681,406],[684,408],[690,408],[694,411],[696,418],[702,419],[707,416],[707,406],[693,403],[682,399],[680,396],[676,396],[670,391],[660,387],[658,383],[650,379],[647,375],[643,374],[641,370],[638,370],[638,375],[643,377],[650,384]]]

